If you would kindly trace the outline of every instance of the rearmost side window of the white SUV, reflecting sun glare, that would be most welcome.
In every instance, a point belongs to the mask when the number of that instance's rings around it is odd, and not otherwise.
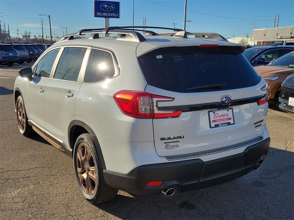
[[[110,53],[92,49],[85,72],[84,82],[99,82],[113,77],[115,73]]]

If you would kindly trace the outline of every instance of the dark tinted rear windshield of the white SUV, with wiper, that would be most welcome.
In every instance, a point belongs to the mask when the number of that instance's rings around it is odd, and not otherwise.
[[[169,47],[138,57],[151,86],[173,92],[208,92],[258,84],[260,76],[233,47]]]

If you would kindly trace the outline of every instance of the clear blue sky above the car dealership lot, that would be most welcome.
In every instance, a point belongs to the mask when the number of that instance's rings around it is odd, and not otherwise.
[[[279,26],[294,25],[294,1],[195,1],[188,0],[187,20],[189,31],[215,32],[226,38],[249,36],[259,28],[273,28],[275,16],[280,15]],[[44,18],[44,35],[50,35],[49,20],[39,14],[50,14],[52,35],[63,35],[63,28],[68,33],[75,33],[83,28],[103,28],[103,18],[93,18],[92,0],[73,1],[14,1],[0,0],[1,25],[9,24],[12,36],[25,30],[31,35],[42,33],[41,18]],[[183,28],[184,0],[135,0],[135,25]],[[110,19],[110,26],[131,26],[133,23],[133,1],[121,1],[121,18]],[[3,27],[2,27],[3,28]]]

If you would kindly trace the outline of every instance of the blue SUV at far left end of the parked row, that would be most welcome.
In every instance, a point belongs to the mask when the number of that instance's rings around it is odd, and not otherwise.
[[[18,61],[17,52],[11,44],[0,44],[0,64],[11,67]]]

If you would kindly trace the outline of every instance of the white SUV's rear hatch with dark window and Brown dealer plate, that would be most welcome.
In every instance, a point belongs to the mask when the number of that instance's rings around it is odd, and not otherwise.
[[[268,88],[240,46],[165,47],[138,57],[153,98],[154,144],[168,159],[246,145],[265,128]],[[170,97],[168,99],[168,97]]]

